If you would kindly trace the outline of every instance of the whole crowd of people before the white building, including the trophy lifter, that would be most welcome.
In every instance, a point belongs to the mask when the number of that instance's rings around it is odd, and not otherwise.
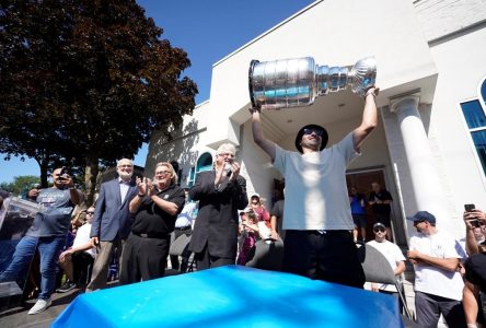
[[[231,143],[217,149],[212,169],[199,173],[187,189],[180,187],[169,162],[158,163],[151,178],[134,177],[132,162],[123,159],[116,167],[118,177],[103,183],[95,204],[81,211],[83,219],[72,222],[73,209],[83,196],[68,173],[55,169],[51,188],[28,192],[43,210],[0,273],[0,282],[15,280],[38,249],[40,291],[28,312],[36,314],[50,305],[58,268],[67,277],[58,292],[76,286],[93,292],[106,288],[113,262],[123,285],[164,277],[167,259],[172,268],[185,272],[188,254],[194,254],[197,270],[244,266],[251,249],[263,239],[284,242],[285,272],[362,289],[366,278],[358,248],[373,247],[385,257],[398,282],[405,261],[413,263],[419,325],[436,327],[443,315],[450,327],[476,327],[484,321],[485,309],[486,214],[481,210],[464,213],[466,241],[462,247],[436,226],[432,213],[417,212],[408,218],[417,233],[410,237],[405,257],[392,242],[391,194],[379,183],[371,184],[368,197],[355,186],[348,191],[346,167],[360,155],[366,138],[377,127],[378,92],[368,90],[360,125],[329,148],[326,129],[302,127],[294,142],[298,152],[266,139],[259,108],[250,109],[253,139],[286,183],[285,200],[277,199],[268,209],[258,194],[246,194],[246,179],[240,175]],[[372,226],[373,238],[366,243],[368,226]],[[66,246],[68,232],[73,241]],[[180,263],[178,256],[170,256],[170,248],[183,235],[190,242]],[[373,282],[369,289],[397,293],[390,284]]]

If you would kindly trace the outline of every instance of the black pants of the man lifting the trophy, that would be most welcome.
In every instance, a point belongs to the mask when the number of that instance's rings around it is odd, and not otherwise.
[[[288,230],[284,271],[362,289],[364,272],[349,231]]]

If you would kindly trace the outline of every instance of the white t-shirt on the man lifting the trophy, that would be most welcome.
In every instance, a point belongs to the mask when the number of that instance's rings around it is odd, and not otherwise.
[[[286,179],[284,230],[354,229],[346,167],[357,155],[352,132],[310,154],[276,147],[274,166]]]

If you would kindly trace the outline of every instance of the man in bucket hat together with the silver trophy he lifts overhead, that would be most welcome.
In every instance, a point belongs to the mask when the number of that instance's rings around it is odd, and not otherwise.
[[[282,77],[287,77],[282,80]],[[359,155],[377,127],[374,58],[348,68],[317,67],[312,58],[252,61],[250,94],[253,139],[286,180],[284,271],[362,288],[364,273],[350,231],[354,229],[346,187],[346,167]],[[351,85],[364,98],[361,124],[325,149],[327,131],[317,125],[300,129],[299,152],[287,151],[264,137],[262,109],[312,104],[315,96]]]

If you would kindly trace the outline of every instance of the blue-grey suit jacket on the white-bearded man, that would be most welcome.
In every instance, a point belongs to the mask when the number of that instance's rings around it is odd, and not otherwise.
[[[128,211],[128,204],[137,194],[137,186],[131,180],[127,196],[124,202],[121,202],[118,178],[102,184],[100,197],[96,200],[90,236],[99,237],[101,242],[113,242],[117,236],[126,239],[132,223],[132,215]]]

